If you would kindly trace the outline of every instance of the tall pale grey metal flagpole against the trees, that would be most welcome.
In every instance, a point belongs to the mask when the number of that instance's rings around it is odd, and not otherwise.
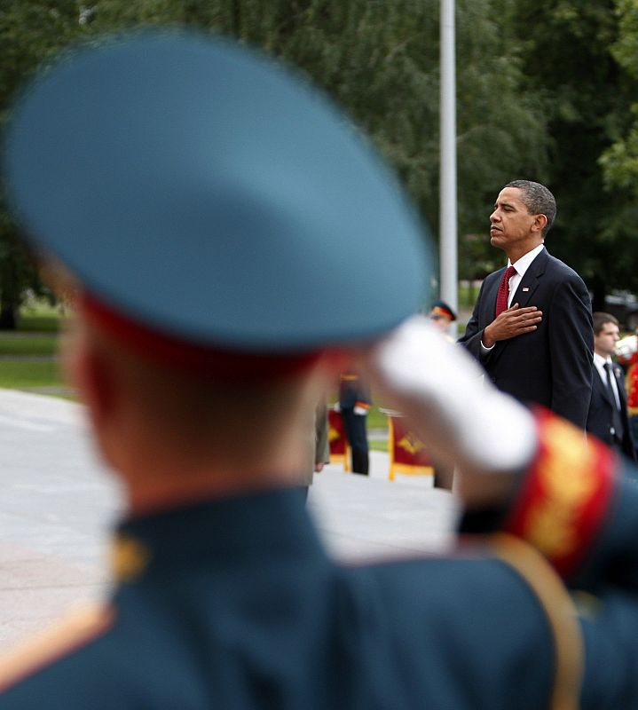
[[[440,294],[458,312],[454,0],[441,0]]]

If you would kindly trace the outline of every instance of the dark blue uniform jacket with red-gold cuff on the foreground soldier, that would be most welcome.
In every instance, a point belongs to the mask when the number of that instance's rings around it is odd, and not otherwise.
[[[289,490],[125,522],[108,607],[4,660],[0,708],[634,707],[638,489],[543,427],[511,509],[464,521],[509,535],[451,558],[340,567]]]

